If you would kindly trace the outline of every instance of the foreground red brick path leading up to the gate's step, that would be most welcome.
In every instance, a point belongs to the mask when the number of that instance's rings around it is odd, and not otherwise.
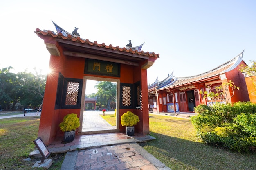
[[[132,144],[79,150],[75,170],[157,170]]]

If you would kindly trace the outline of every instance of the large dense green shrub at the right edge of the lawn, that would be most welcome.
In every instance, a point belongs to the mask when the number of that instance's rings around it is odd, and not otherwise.
[[[212,146],[256,152],[256,104],[238,102],[195,107],[192,124],[203,142]]]

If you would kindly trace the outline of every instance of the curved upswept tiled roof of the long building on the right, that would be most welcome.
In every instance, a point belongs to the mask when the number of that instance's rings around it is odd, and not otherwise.
[[[172,81],[171,83],[169,83],[167,85],[164,85],[163,87],[157,88],[157,90],[168,89],[168,88],[172,88],[172,87],[179,87],[182,85],[189,85],[191,83],[202,82],[202,81],[210,79],[210,78],[219,77],[220,74],[223,74],[225,72],[229,72],[229,71],[233,70],[241,63],[242,57],[243,57],[243,52],[241,54],[239,54],[238,56],[234,57],[233,59],[227,61],[226,63],[224,63],[208,72],[204,72],[202,74],[198,74],[196,76],[190,76],[190,77],[177,77],[177,78],[173,77],[174,81]]]

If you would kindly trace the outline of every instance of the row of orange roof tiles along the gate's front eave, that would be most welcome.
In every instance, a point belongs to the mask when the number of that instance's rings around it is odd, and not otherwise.
[[[64,40],[70,40],[73,42],[79,42],[82,44],[89,44],[91,46],[98,46],[101,48],[106,48],[106,49],[112,49],[112,50],[116,50],[119,52],[128,52],[128,53],[132,53],[132,54],[138,54],[141,56],[151,56],[151,57],[157,57],[159,58],[159,54],[155,54],[154,52],[143,52],[143,51],[138,51],[138,50],[132,50],[132,49],[126,49],[125,47],[120,48],[119,46],[112,46],[111,44],[106,45],[105,43],[102,44],[98,44],[97,41],[94,42],[90,42],[89,39],[82,39],[80,37],[74,37],[72,35],[67,35],[64,36],[62,33],[58,33],[56,34],[54,31],[49,31],[49,30],[40,30],[39,28],[36,28],[36,31],[34,31],[37,35],[41,34],[41,35],[48,35],[48,36],[52,36],[54,38],[60,38],[60,39],[64,39]]]

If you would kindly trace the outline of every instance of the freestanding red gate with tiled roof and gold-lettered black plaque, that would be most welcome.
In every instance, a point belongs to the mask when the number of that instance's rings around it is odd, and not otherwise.
[[[125,132],[120,122],[122,114],[127,111],[139,116],[135,133],[148,134],[148,108],[142,107],[148,105],[147,68],[153,65],[159,54],[143,52],[141,46],[132,48],[99,44],[80,38],[77,29],[74,33],[68,33],[54,25],[57,33],[39,28],[34,31],[43,39],[50,53],[49,68],[52,70],[47,75],[38,137],[47,145],[55,137],[63,136],[58,125],[69,113],[77,114],[80,119],[77,134]],[[115,129],[82,131],[87,80],[117,83]]]

